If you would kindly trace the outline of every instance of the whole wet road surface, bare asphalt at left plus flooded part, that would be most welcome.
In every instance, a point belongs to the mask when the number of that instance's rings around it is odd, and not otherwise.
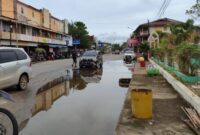
[[[98,71],[72,70],[71,60],[34,64],[28,89],[6,89],[15,103],[0,99],[0,105],[17,118],[20,135],[113,134],[127,91],[118,81],[131,77],[121,59],[121,55],[104,56],[103,69]],[[71,71],[70,81],[44,91],[46,94],[38,93],[45,83],[65,76],[66,69]],[[47,101],[49,94],[50,105],[46,102],[45,108],[43,101]]]

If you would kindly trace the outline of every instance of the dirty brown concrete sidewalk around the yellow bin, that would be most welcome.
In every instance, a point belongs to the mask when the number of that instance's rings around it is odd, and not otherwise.
[[[132,116],[130,91],[140,87],[151,89],[153,92],[151,120],[138,120]],[[181,120],[185,117],[181,106],[187,106],[187,103],[162,76],[148,77],[145,68],[140,68],[137,63],[116,135],[193,135],[194,133]]]

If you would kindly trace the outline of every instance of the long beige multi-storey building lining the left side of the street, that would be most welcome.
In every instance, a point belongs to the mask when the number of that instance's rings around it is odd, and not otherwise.
[[[66,47],[68,21],[18,0],[0,0],[0,46],[36,47],[47,51]],[[53,49],[51,49],[53,48]]]

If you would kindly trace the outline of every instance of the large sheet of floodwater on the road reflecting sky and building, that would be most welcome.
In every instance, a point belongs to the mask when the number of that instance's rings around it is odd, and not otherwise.
[[[74,70],[72,80],[38,92],[20,135],[112,135],[131,78],[122,61],[108,61],[102,70]]]

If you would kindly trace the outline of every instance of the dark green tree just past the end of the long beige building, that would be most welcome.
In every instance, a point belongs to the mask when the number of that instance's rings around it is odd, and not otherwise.
[[[91,47],[87,27],[83,22],[78,21],[69,24],[69,34],[74,39],[80,39],[80,48],[86,49]]]

